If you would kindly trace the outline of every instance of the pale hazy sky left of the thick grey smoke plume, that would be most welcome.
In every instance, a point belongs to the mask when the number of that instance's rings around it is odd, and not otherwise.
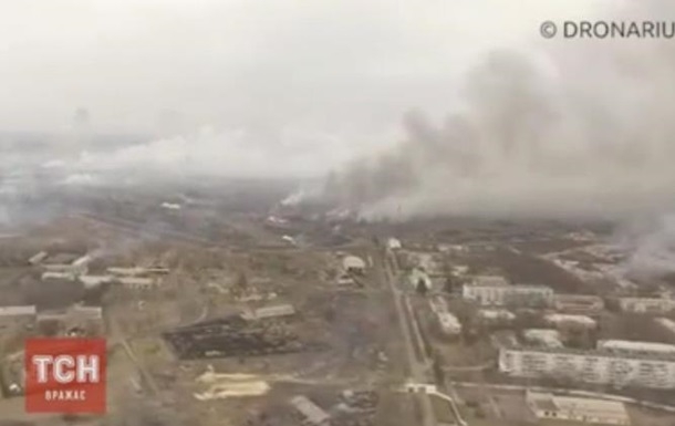
[[[489,48],[596,3],[2,1],[0,129],[61,131],[84,107],[100,132],[209,125],[375,139],[411,107],[447,111],[458,75]]]

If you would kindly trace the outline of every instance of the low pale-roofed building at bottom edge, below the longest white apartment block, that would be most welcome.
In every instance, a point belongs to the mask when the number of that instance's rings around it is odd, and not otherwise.
[[[601,425],[629,426],[631,424],[625,405],[614,401],[528,392],[526,402],[539,419],[570,420]]]

